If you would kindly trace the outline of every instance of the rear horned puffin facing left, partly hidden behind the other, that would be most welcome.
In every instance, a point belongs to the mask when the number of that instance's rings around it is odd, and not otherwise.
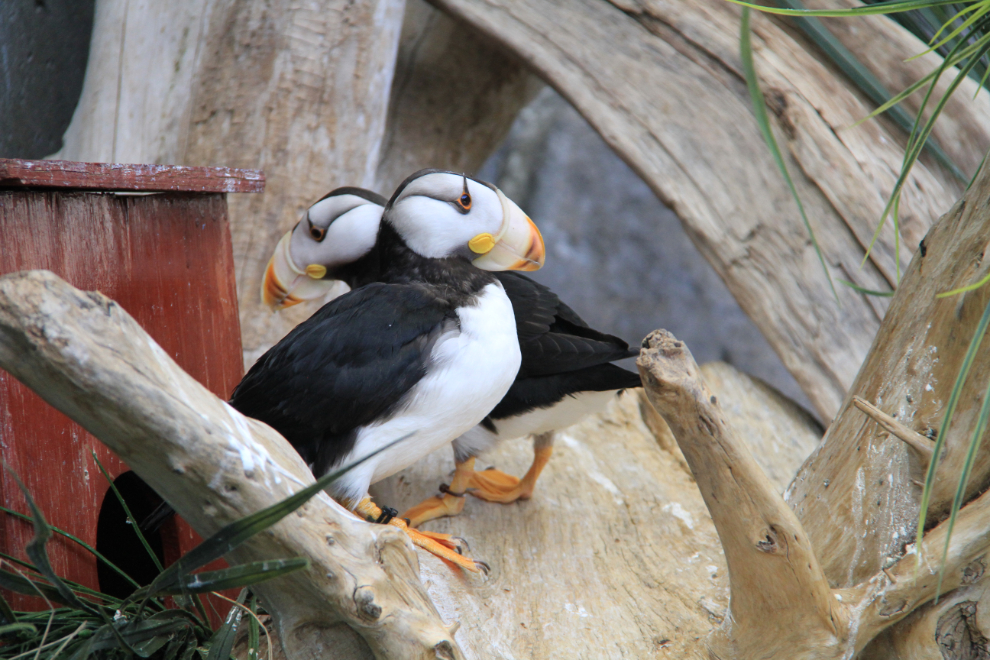
[[[379,220],[387,202],[361,188],[338,188],[313,204],[279,241],[262,297],[275,309],[324,295],[335,280],[352,289],[378,281]],[[553,451],[553,432],[605,408],[615,394],[639,387],[638,374],[611,364],[638,351],[598,332],[549,288],[516,272],[494,273],[512,302],[522,364],[509,391],[480,424],[453,442],[456,470],[442,494],[402,515],[418,526],[456,515],[464,493],[491,502],[527,499]],[[477,456],[502,440],[534,436],[532,466],[522,479],[475,471]]]

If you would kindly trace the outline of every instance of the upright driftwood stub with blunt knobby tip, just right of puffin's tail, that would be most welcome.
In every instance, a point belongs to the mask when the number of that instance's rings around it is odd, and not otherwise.
[[[652,332],[643,346],[637,364],[646,394],[694,473],[729,566],[729,612],[710,639],[713,652],[813,657],[844,641],[848,611],[833,596],[810,538],[726,423],[687,346],[666,330]]]

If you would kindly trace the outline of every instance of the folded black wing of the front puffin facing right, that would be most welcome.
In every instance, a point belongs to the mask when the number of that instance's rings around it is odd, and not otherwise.
[[[281,433],[319,476],[426,374],[449,304],[418,285],[370,284],[336,298],[251,367],[230,404]]]

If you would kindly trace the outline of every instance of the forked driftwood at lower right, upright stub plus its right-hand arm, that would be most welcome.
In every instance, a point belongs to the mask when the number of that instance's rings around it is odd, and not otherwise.
[[[658,330],[644,349],[638,365],[647,397],[691,467],[728,564],[729,611],[709,638],[715,657],[851,658],[935,597],[946,523],[857,587],[831,589],[804,526],[726,422],[687,347]],[[943,592],[983,578],[988,517],[990,494],[961,511]]]

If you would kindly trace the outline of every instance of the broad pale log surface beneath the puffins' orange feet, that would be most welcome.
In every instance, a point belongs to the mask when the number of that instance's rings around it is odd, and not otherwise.
[[[817,444],[817,424],[727,364],[702,370],[761,465],[789,478]],[[444,619],[460,623],[467,657],[708,658],[699,639],[725,614],[725,561],[680,449],[641,392],[558,434],[532,500],[469,498],[462,515],[427,525],[464,537],[492,565],[485,582],[454,580],[420,554],[427,589]],[[478,464],[523,474],[531,460],[520,439]],[[441,450],[373,490],[401,509],[453,467]]]

